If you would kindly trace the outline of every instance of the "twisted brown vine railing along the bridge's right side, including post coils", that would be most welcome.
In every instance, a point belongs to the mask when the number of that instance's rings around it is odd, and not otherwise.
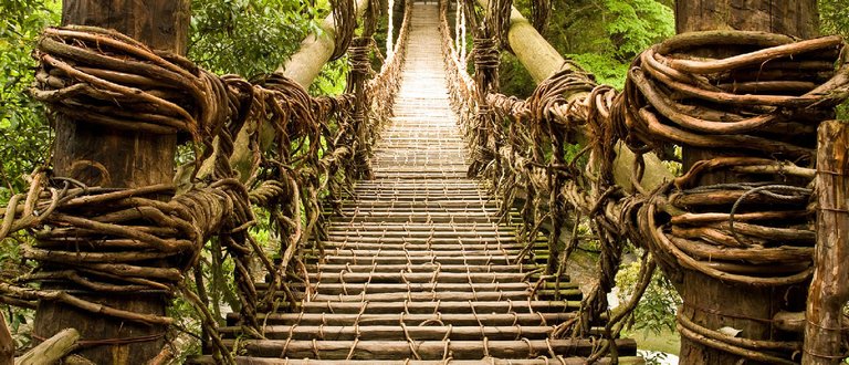
[[[560,227],[576,228],[567,242],[551,242],[549,274],[560,273],[576,249],[577,226],[589,228],[601,248],[597,282],[580,317],[555,336],[595,336],[591,326],[605,316],[604,342],[593,358],[615,354],[606,340],[619,336],[656,265],[673,282],[684,270],[776,290],[809,282],[817,127],[849,96],[841,38],[685,33],[638,56],[621,92],[567,62],[521,100],[465,72],[463,51],[451,36],[461,31],[449,29],[448,1],[441,6],[452,103],[474,149],[476,169],[470,173],[489,178],[505,208],[525,196],[526,238],[544,222],[554,228],[552,240]],[[715,49],[736,52],[716,59],[700,53]],[[475,41],[475,65],[490,52],[490,44]],[[670,153],[675,146],[719,157],[696,161],[658,187],[641,185],[647,156],[680,161]],[[636,155],[630,166],[620,159],[625,149]],[[622,167],[630,170],[625,182],[615,177]],[[712,184],[712,174],[740,182]],[[633,296],[611,312],[606,294],[616,285],[627,241],[646,252],[640,280]],[[699,311],[704,309],[686,300],[678,311],[679,332],[690,341],[756,362],[794,364],[801,356],[800,334],[785,341],[732,337],[696,324]]]

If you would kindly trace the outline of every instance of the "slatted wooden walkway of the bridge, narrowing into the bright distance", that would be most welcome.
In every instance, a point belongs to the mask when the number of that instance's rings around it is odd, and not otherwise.
[[[576,315],[577,285],[565,280],[560,300],[553,284],[534,290],[541,265],[516,262],[523,244],[513,227],[499,223],[497,202],[465,177],[437,6],[415,4],[411,25],[375,179],[358,182],[344,216],[332,218],[324,258],[307,262],[313,290],[300,313],[268,314],[268,340],[221,330],[243,348],[240,364],[583,364],[591,353],[589,340],[548,338]],[[621,363],[638,363],[635,353],[620,341]]]

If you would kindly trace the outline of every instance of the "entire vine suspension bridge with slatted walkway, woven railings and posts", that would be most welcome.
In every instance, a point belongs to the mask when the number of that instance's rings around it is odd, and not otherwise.
[[[63,22],[86,25],[34,52],[57,140],[0,210],[0,239],[32,236],[32,270],[0,281],[3,303],[36,309],[43,344],[19,361],[166,362],[180,295],[202,327],[190,364],[642,364],[621,333],[657,268],[683,299],[688,363],[847,353],[849,127],[830,118],[849,60],[796,2],[769,2],[796,21],[724,20],[745,31],[680,2],[686,32],[620,92],[544,41],[545,0],[533,25],[510,0],[408,0],[386,58],[378,1],[331,1],[325,33],[253,80],[182,58],[188,14],[147,1],[151,19],[126,22],[71,1]],[[530,97],[499,92],[502,50],[539,82]],[[345,93],[311,96],[345,54]],[[176,169],[182,143],[196,159]],[[587,240],[581,285],[566,263]],[[610,309],[626,242],[641,269]],[[203,268],[224,261],[239,305],[221,325]]]

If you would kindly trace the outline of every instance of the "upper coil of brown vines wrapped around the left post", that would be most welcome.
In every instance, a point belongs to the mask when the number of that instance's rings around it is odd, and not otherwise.
[[[229,117],[221,81],[113,30],[49,28],[30,94],[73,121],[201,142]]]

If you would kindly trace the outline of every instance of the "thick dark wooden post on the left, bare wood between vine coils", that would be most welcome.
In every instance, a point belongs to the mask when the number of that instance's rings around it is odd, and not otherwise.
[[[185,54],[189,9],[187,0],[65,0],[62,23],[115,29],[154,49]],[[62,116],[55,121],[55,129],[53,166],[56,176],[103,187],[139,187],[172,179],[176,136],[108,131]],[[69,290],[73,285],[44,283],[43,288]],[[167,305],[161,294],[76,295],[122,310],[157,315],[164,315]],[[85,341],[109,341],[81,350],[83,356],[97,364],[142,364],[156,356],[165,343],[161,334],[166,327],[161,325],[94,315],[56,302],[39,305],[34,335],[50,337],[67,327],[78,330]]]

